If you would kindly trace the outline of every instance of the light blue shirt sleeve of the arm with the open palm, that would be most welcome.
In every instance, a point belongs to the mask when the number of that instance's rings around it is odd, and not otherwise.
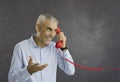
[[[24,82],[29,78],[30,74],[27,67],[24,67],[22,62],[22,51],[20,46],[17,45],[13,51],[11,66],[8,73],[9,82]]]

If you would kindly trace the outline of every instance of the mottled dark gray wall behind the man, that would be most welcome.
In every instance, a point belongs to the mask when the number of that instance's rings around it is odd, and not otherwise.
[[[76,63],[120,67],[120,0],[0,0],[0,82],[7,82],[14,45],[35,33],[40,13],[58,18]],[[120,82],[120,71],[58,70],[57,82]]]

